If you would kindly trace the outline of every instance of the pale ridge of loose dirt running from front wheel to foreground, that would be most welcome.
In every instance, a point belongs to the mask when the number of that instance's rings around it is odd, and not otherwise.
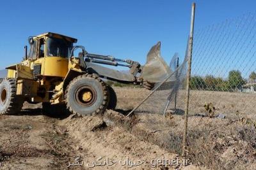
[[[102,117],[68,118],[60,122],[70,132],[70,136],[77,143],[76,150],[83,157],[84,169],[92,169],[92,165],[100,157],[103,160],[115,160],[113,166],[95,166],[93,169],[163,169],[164,167],[152,167],[153,159],[175,159],[176,154],[148,143],[143,139],[126,131],[120,126],[108,126]],[[95,128],[96,127],[96,128]],[[132,162],[143,161],[140,166],[122,166],[125,160]],[[122,162],[120,162],[122,161]]]

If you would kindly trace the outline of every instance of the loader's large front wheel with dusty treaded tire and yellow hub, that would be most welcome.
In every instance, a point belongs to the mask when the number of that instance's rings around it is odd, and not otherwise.
[[[107,108],[108,90],[96,74],[84,74],[70,81],[65,101],[71,113],[81,116],[102,114]]]

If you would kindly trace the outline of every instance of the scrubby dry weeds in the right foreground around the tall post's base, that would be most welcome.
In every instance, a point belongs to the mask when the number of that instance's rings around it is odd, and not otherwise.
[[[161,115],[141,113],[132,133],[139,139],[181,155],[182,116],[167,120]],[[156,121],[154,121],[156,120]],[[188,157],[196,166],[211,169],[252,169],[256,165],[256,129],[234,120],[189,117]]]

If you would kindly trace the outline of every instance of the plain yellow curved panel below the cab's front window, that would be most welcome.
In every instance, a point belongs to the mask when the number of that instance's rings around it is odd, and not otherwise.
[[[44,76],[58,76],[65,78],[68,73],[68,59],[61,57],[45,57],[44,59],[44,69],[42,66]]]

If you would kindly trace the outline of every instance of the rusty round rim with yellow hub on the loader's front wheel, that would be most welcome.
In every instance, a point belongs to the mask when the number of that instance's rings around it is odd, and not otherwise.
[[[81,106],[92,106],[97,99],[97,92],[90,86],[79,87],[76,90],[75,99]]]

